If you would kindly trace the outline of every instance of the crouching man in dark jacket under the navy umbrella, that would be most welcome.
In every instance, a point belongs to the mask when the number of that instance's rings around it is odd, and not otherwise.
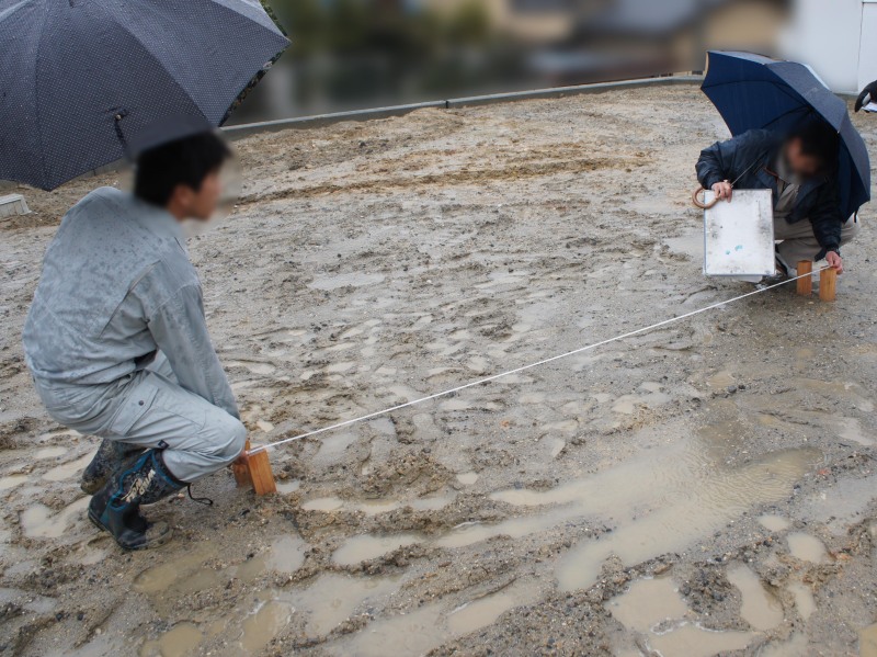
[[[749,131],[701,151],[697,179],[717,199],[732,190],[771,190],[777,269],[794,274],[801,260],[822,260],[843,273],[841,245],[858,233],[858,218],[841,215],[834,169],[840,140],[831,126],[808,118],[785,138]]]

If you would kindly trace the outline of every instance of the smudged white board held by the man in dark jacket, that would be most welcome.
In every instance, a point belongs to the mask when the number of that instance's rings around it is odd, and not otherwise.
[[[713,201],[711,191],[704,200]],[[775,273],[771,190],[734,190],[731,202],[704,211],[704,274],[770,276]]]

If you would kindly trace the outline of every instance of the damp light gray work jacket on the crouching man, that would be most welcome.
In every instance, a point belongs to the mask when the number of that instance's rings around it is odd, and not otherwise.
[[[101,188],[67,213],[23,338],[38,387],[111,384],[161,350],[182,387],[239,417],[180,223],[132,194]]]

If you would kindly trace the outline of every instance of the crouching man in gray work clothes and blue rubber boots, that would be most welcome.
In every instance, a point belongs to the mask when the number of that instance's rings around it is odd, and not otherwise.
[[[232,463],[246,430],[210,343],[182,222],[215,212],[214,133],[147,150],[134,194],[102,188],[61,222],[24,328],[49,415],[104,438],[83,474],[91,521],[125,550],[170,537],[151,505]]]

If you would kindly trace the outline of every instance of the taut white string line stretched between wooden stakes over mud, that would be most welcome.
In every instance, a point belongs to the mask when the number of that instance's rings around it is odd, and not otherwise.
[[[594,342],[593,344],[589,344],[586,347],[581,347],[579,349],[573,349],[572,351],[568,351],[566,353],[561,353],[559,355],[553,355],[551,358],[544,359],[542,361],[531,363],[528,365],[522,365],[521,367],[515,367],[514,370],[509,370],[508,372],[500,372],[499,374],[493,374],[491,376],[487,376],[485,378],[479,378],[478,381],[472,381],[470,383],[457,386],[455,388],[451,388],[448,390],[442,390],[441,393],[435,393],[433,395],[428,395],[426,397],[421,397],[420,399],[413,399],[411,401],[406,401],[405,404],[398,404],[396,406],[391,406],[390,408],[385,408],[384,410],[378,410],[375,412],[369,412],[368,415],[361,416],[358,418],[354,418],[352,420],[344,420],[343,422],[338,422],[337,424],[330,424],[329,427],[323,427],[322,429],[315,429],[314,431],[308,431],[307,433],[300,433],[298,435],[294,435],[293,438],[285,438],[283,440],[278,440],[276,442],[267,443],[264,445],[259,445],[250,450],[250,454],[258,454],[259,452],[264,452],[266,450],[272,450],[274,448],[278,448],[280,445],[284,445],[286,443],[291,443],[296,440],[303,440],[305,438],[310,438],[312,435],[318,435],[320,433],[326,433],[328,431],[334,431],[335,429],[341,429],[343,427],[349,427],[351,424],[355,424],[356,422],[362,422],[364,420],[371,420],[372,418],[376,418],[379,416],[384,416],[402,408],[408,408],[409,406],[414,406],[417,404],[423,404],[424,401],[430,401],[431,399],[437,399],[438,397],[446,397],[448,395],[453,395],[454,393],[459,393],[460,390],[465,390],[466,388],[472,388],[475,386],[483,385],[486,383],[490,383],[491,381],[497,381],[498,378],[502,378],[503,376],[510,376],[512,374],[517,374],[519,372],[524,372],[526,370],[532,370],[533,367],[538,367],[540,365],[545,365],[547,363],[553,363],[554,361],[559,361],[561,359],[569,358],[571,355],[576,355],[577,353],[582,353],[583,351],[589,351],[591,349],[596,349],[597,347],[603,347],[604,344],[608,344],[610,342],[617,342],[618,340],[624,340],[625,338],[630,338],[633,336],[638,336],[640,333],[645,333],[647,331],[660,328],[662,326],[667,326],[669,324],[674,324],[676,321],[682,321],[683,319],[687,319],[688,317],[694,317],[695,315],[699,315],[701,313],[706,313],[708,310],[714,310],[721,306],[726,306],[728,304],[732,304],[733,302],[739,302],[740,299],[744,299],[748,296],[753,296],[755,294],[761,294],[762,292],[767,292],[768,290],[773,290],[774,287],[779,287],[781,285],[786,285],[791,283],[793,281],[797,281],[798,279],[806,279],[807,276],[812,276],[821,271],[827,269],[831,269],[830,267],[822,267],[818,270],[815,270],[807,274],[801,274],[795,276],[794,279],[786,279],[785,281],[781,281],[779,283],[774,283],[773,285],[767,285],[765,287],[760,287],[758,290],[753,290],[752,292],[748,292],[747,294],[741,294],[740,296],[736,296],[733,298],[729,298],[724,302],[718,302],[706,306],[705,308],[701,308],[698,310],[692,310],[691,313],[685,313],[684,315],[680,315],[677,317],[671,317],[670,319],[664,319],[663,321],[659,321],[657,324],[652,324],[651,326],[647,326],[643,328],[639,328],[633,331],[628,331],[620,336],[615,336],[614,338],[608,338],[606,340],[601,340],[600,342]]]

